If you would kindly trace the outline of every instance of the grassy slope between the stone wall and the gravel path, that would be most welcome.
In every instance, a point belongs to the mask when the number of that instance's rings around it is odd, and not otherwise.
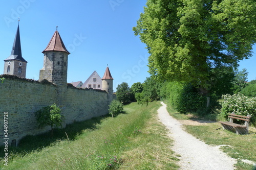
[[[54,138],[29,136],[0,169],[177,169],[172,141],[156,117],[159,106],[132,103],[117,117],[70,125],[68,137],[62,130]]]

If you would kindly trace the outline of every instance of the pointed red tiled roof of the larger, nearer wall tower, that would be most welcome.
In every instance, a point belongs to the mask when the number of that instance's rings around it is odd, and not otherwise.
[[[46,49],[42,53],[46,51],[59,51],[59,52],[66,52],[70,54],[67,48],[65,47],[58,31],[55,31],[55,33],[52,36],[52,39],[50,40]]]

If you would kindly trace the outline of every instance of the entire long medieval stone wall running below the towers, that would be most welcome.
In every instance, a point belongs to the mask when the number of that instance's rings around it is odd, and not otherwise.
[[[26,135],[36,135],[50,130],[38,129],[34,113],[42,107],[57,104],[67,124],[108,113],[109,94],[102,90],[60,87],[48,81],[34,81],[16,76],[5,77],[0,82],[0,138],[4,138],[4,113],[8,112],[8,137],[11,141]],[[60,93],[61,92],[61,93]],[[3,142],[2,142],[3,143]],[[0,144],[2,145],[2,144]]]

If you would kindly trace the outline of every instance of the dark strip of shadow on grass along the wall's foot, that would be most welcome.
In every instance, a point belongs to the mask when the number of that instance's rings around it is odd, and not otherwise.
[[[51,131],[35,136],[28,135],[19,141],[18,147],[9,146],[8,152],[23,156],[32,151],[40,151],[42,148],[48,147],[59,140],[66,140],[67,138],[69,138],[69,140],[75,140],[76,136],[80,135],[84,130],[97,129],[97,125],[101,124],[101,120],[107,117],[109,117],[109,114],[94,117],[82,122],[74,122],[63,129],[54,129],[53,136],[51,136]],[[0,147],[0,150],[3,151],[4,147]],[[0,157],[4,157],[4,154],[5,153],[1,152]]]

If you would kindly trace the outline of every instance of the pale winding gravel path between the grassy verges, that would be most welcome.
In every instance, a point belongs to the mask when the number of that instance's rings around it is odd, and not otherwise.
[[[181,157],[180,169],[193,170],[229,170],[234,169],[236,159],[228,157],[219,147],[211,147],[189,133],[185,132],[181,124],[169,115],[166,105],[158,109],[158,116],[161,122],[169,129],[168,135],[174,139],[173,151]]]

